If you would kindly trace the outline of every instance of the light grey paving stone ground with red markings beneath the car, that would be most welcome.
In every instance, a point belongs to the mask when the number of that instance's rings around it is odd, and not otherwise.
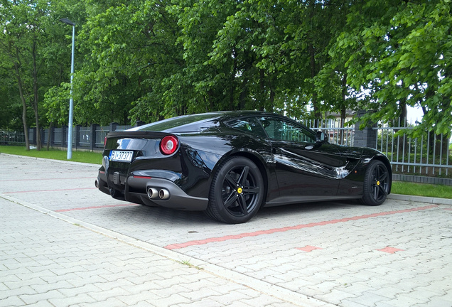
[[[224,225],[114,200],[97,168],[0,154],[0,306],[452,306],[448,201]]]

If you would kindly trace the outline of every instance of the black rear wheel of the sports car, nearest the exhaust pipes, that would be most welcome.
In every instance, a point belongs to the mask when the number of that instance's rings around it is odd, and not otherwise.
[[[244,223],[256,215],[264,195],[264,180],[256,164],[232,156],[222,162],[212,179],[206,213],[220,222]]]

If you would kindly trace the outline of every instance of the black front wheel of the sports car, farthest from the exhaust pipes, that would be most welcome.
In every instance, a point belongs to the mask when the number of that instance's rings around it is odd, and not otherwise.
[[[364,205],[381,205],[386,200],[390,185],[389,171],[380,160],[370,162],[365,173],[361,202]]]

